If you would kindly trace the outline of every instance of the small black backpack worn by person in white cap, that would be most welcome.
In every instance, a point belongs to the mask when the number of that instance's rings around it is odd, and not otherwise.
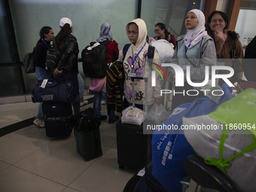
[[[59,64],[60,59],[61,59],[60,50],[56,46],[56,44],[53,44],[47,50],[45,65],[47,66],[48,69],[55,69]]]

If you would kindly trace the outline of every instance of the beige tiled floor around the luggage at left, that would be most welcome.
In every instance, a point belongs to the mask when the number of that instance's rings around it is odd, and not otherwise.
[[[35,117],[37,108],[32,102],[0,105],[0,128]],[[77,153],[73,133],[50,139],[31,125],[0,137],[0,191],[123,191],[135,172],[118,167],[115,123],[102,121],[100,133],[103,155],[88,162]]]

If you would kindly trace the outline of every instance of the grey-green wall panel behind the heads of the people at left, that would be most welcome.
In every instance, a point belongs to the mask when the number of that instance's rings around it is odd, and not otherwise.
[[[137,0],[11,0],[10,7],[20,60],[35,47],[41,27],[50,26],[57,35],[62,17],[72,20],[79,58],[81,50],[99,38],[100,26],[105,22],[111,24],[114,40],[123,47],[129,41],[126,23],[137,14]]]

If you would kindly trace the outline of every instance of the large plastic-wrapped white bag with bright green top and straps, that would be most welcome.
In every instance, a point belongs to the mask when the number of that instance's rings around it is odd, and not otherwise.
[[[217,166],[246,192],[256,183],[256,90],[247,89],[221,104],[209,115],[184,118],[187,141],[209,165]]]

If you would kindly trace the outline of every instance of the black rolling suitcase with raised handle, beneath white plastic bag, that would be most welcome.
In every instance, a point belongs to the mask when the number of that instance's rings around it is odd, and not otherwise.
[[[132,78],[132,84],[134,83]],[[143,79],[143,78],[140,78]],[[147,79],[145,78],[147,84]],[[134,84],[133,84],[134,86]],[[147,87],[147,85],[146,85]],[[147,91],[146,91],[147,92]],[[147,96],[146,96],[147,102]],[[134,98],[133,98],[134,105]],[[147,111],[147,106],[146,106]],[[145,122],[144,122],[145,123]],[[121,123],[116,125],[117,134],[117,161],[120,169],[133,169],[139,171],[151,160],[151,135],[143,134],[142,125]]]

